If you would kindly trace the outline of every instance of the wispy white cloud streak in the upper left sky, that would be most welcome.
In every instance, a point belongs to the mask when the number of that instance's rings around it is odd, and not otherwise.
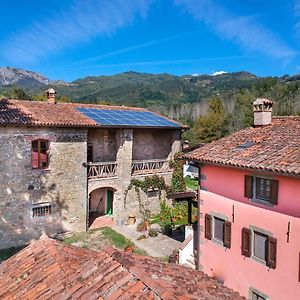
[[[152,1],[73,0],[64,10],[53,11],[14,34],[2,45],[3,55],[12,62],[34,62],[98,36],[111,35],[136,17],[146,17]]]

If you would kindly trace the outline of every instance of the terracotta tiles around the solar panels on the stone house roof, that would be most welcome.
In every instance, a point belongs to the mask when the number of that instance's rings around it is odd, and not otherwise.
[[[144,108],[110,106],[81,103],[48,103],[45,101],[0,100],[1,125],[28,125],[28,126],[70,126],[70,127],[99,127],[94,120],[80,113],[76,108],[97,108],[108,110],[147,111]],[[164,117],[170,120],[167,117]],[[181,127],[183,124],[171,120]]]

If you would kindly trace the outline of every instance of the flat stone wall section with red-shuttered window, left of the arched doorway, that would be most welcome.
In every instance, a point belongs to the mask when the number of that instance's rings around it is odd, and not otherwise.
[[[31,141],[50,141],[49,169],[31,167]],[[87,130],[0,129],[0,248],[23,245],[43,232],[86,229]],[[51,215],[33,217],[32,206],[51,204]]]

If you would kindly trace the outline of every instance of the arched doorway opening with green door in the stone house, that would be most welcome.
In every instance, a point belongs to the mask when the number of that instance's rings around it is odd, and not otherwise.
[[[93,190],[89,194],[88,224],[103,223],[104,220],[113,219],[113,202],[115,190],[103,187]]]

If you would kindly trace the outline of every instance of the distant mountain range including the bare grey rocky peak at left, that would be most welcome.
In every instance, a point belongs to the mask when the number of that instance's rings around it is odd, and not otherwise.
[[[67,97],[71,102],[141,106],[175,118],[205,114],[207,100],[212,96],[220,96],[230,110],[235,101],[232,95],[241,90],[254,89],[258,96],[272,96],[275,85],[285,87],[299,82],[300,75],[258,77],[244,71],[182,76],[129,71],[65,82],[50,80],[33,71],[0,67],[0,95],[1,90],[19,87],[32,97],[42,95],[51,86],[58,96]]]

